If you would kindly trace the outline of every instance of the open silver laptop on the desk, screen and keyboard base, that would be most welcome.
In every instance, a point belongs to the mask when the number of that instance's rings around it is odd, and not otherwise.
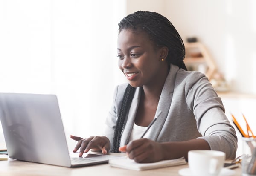
[[[56,95],[0,93],[0,119],[12,159],[79,167],[116,157],[85,153],[70,157]]]

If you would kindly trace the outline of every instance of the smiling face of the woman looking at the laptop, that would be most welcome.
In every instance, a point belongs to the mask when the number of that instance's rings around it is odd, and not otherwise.
[[[123,29],[119,33],[119,69],[132,87],[154,85],[161,78],[163,63],[167,64],[166,61],[161,61],[163,55],[166,53],[154,45],[146,32]]]

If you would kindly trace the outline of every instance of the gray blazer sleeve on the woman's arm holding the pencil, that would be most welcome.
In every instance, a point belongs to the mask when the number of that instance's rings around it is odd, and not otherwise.
[[[211,150],[220,150],[226,153],[227,159],[236,157],[237,136],[230,124],[221,98],[212,88],[208,78],[195,72],[186,85],[186,102],[193,111],[198,131],[206,140]]]

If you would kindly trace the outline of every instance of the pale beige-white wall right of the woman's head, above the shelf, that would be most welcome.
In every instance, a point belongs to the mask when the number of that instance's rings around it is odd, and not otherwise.
[[[204,43],[231,89],[256,94],[255,0],[128,0],[128,13],[159,12],[185,41]]]

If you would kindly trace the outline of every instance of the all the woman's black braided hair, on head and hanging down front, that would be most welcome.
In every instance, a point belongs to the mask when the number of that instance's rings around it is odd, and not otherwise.
[[[187,70],[183,61],[185,57],[185,46],[183,40],[175,27],[166,17],[163,17],[156,12],[137,11],[123,18],[118,26],[119,33],[122,29],[141,29],[145,31],[148,33],[150,40],[152,40],[157,46],[168,47],[169,51],[166,60],[169,64],[172,63],[181,69]],[[120,147],[121,133],[125,124],[127,112],[131,106],[134,92],[135,88],[128,84],[122,99],[121,108],[117,115],[112,152],[119,152],[118,149]]]

